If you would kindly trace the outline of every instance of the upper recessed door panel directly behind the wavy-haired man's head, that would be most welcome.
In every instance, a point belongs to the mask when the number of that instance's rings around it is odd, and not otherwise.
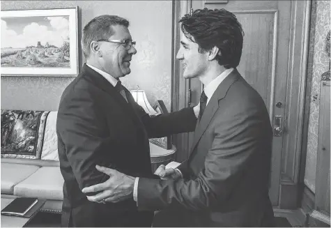
[[[277,11],[261,13],[236,13],[238,21],[241,22],[245,32],[243,43],[243,54],[238,66],[238,71],[246,81],[258,91],[270,111],[270,100],[272,98],[271,84],[275,76],[272,72],[272,54],[275,50],[273,43],[275,14]],[[277,26],[277,25],[276,25]]]

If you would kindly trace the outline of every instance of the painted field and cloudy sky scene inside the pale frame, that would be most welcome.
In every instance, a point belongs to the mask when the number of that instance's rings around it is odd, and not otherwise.
[[[1,67],[70,68],[68,19],[1,17]]]

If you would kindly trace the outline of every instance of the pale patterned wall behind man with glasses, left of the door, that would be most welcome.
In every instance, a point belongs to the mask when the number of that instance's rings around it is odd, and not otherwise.
[[[79,7],[79,63],[82,27],[93,17],[119,15],[130,21],[137,41],[131,74],[121,79],[130,89],[146,91],[151,103],[163,100],[171,107],[171,1],[1,1],[1,10]],[[73,77],[1,77],[1,109],[56,110],[61,94]]]

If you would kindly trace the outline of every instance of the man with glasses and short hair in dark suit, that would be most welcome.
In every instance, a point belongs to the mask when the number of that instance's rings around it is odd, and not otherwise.
[[[63,227],[151,227],[153,212],[139,212],[132,193],[121,192],[124,200],[118,204],[98,204],[88,201],[82,189],[107,180],[95,165],[155,178],[148,137],[193,131],[197,122],[192,108],[148,116],[121,86],[118,79],[130,73],[137,52],[128,26],[128,20],[111,15],[86,24],[86,64],[61,97],[56,133],[64,178]]]

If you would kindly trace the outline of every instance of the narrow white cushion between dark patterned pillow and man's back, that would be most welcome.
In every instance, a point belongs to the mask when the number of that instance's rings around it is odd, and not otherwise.
[[[49,112],[47,116],[43,150],[41,151],[41,160],[59,161],[57,152],[57,135],[56,135],[56,118],[57,112]]]

